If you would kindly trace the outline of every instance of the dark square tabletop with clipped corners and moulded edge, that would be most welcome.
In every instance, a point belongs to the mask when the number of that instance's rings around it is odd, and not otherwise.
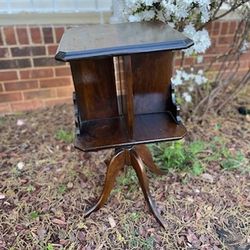
[[[163,50],[185,49],[193,41],[162,22],[89,24],[67,30],[56,59],[119,56]]]

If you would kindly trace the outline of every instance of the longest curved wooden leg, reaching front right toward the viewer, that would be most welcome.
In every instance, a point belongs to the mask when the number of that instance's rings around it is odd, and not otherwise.
[[[165,221],[163,220],[163,218],[159,214],[159,212],[156,208],[155,202],[151,197],[151,194],[149,191],[148,177],[145,173],[143,162],[135,150],[132,149],[130,152],[131,152],[131,154],[130,154],[131,165],[135,169],[135,172],[136,172],[137,177],[139,179],[139,183],[140,183],[142,192],[144,194],[145,200],[147,201],[149,208],[152,211],[156,220],[165,228]]]

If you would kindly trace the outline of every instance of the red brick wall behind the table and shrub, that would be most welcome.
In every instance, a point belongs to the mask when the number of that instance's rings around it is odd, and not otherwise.
[[[218,21],[208,27],[212,47],[204,55],[207,65],[225,53],[236,31],[237,21]],[[69,65],[54,60],[65,26],[0,27],[0,113],[37,109],[71,102],[72,79]],[[176,58],[176,66],[180,58]],[[184,66],[195,66],[194,57]],[[218,70],[216,63],[213,70]],[[240,58],[240,72],[250,66],[250,54]]]

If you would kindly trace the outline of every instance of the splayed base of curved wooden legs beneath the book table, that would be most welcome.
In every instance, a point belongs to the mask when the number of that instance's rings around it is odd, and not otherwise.
[[[133,146],[131,148],[123,148],[117,151],[107,167],[107,173],[102,194],[97,203],[86,212],[84,217],[88,217],[91,213],[97,211],[106,203],[119,171],[125,165],[131,165],[134,168],[136,175],[139,179],[142,192],[151,212],[153,213],[156,220],[160,223],[160,225],[165,228],[165,222],[161,217],[160,213],[158,212],[155,202],[152,199],[152,196],[149,191],[149,182],[144,168],[144,164],[155,174],[161,175],[165,173],[154,164],[152,155],[145,145]]]

